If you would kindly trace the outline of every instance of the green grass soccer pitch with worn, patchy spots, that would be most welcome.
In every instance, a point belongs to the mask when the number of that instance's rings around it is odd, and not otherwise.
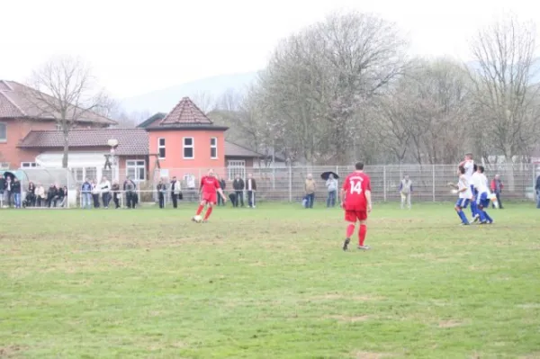
[[[0,357],[540,357],[540,211],[395,207],[0,211]]]

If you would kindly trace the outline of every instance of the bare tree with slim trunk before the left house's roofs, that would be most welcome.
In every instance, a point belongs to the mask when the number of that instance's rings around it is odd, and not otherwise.
[[[108,124],[97,112],[108,108],[111,102],[103,90],[97,89],[90,67],[80,58],[52,58],[34,70],[26,97],[39,117],[57,121],[58,130],[64,134],[64,168],[67,168],[70,130],[80,123],[95,123],[97,117],[102,120],[98,123]]]

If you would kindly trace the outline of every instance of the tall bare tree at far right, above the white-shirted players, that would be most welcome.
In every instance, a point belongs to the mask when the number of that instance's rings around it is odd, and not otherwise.
[[[494,22],[473,40],[471,70],[476,123],[491,134],[493,149],[508,162],[523,156],[538,139],[536,27],[516,17]]]

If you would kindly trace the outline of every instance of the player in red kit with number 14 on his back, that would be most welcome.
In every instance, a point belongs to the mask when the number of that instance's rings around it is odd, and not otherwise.
[[[349,222],[347,226],[347,238],[343,244],[343,250],[347,250],[351,242],[351,236],[355,233],[356,220],[360,221],[358,231],[358,249],[369,249],[364,245],[367,227],[367,213],[372,211],[371,202],[371,181],[369,175],[364,173],[364,164],[356,163],[356,171],[347,175],[341,193],[341,207],[345,210],[345,220]]]

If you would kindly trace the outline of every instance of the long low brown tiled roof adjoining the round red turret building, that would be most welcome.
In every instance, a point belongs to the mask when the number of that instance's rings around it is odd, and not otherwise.
[[[69,147],[109,147],[109,139],[118,139],[116,155],[148,155],[148,132],[142,129],[71,130]],[[58,130],[32,130],[19,144],[21,148],[61,148],[64,134]]]

